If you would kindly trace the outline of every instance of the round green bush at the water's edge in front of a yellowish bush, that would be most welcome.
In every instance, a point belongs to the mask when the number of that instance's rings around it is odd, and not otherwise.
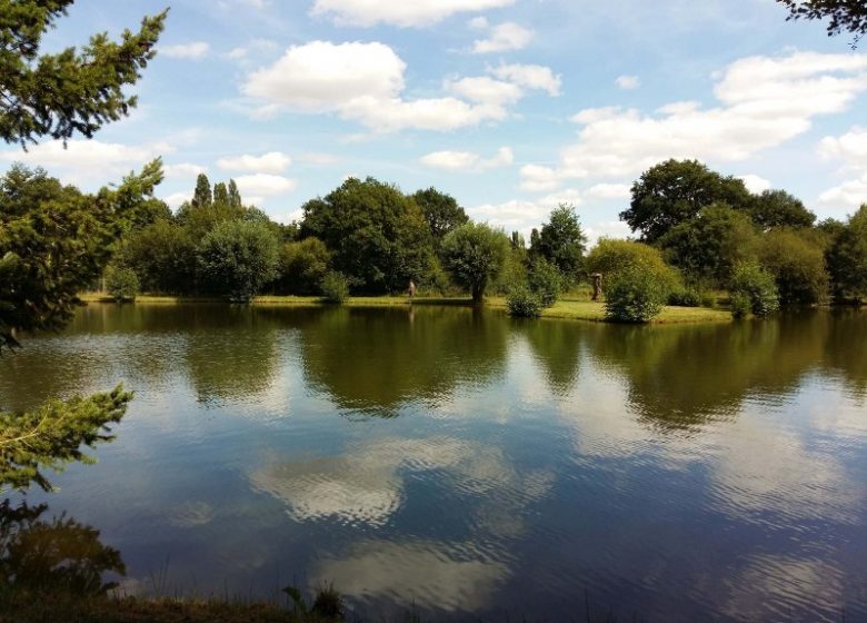
[[[658,271],[634,266],[615,274],[605,295],[605,317],[616,323],[649,323],[662,310],[668,285]]]

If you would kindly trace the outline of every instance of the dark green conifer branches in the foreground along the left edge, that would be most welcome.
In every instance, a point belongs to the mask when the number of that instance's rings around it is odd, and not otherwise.
[[[41,137],[90,138],[136,106],[124,92],[153,58],[166,12],[144,18],[121,43],[97,34],[82,53],[68,48],[39,56],[46,30],[72,0],[0,0],[0,137],[26,146]],[[13,167],[0,181],[0,350],[16,332],[58,328],[76,293],[102,271],[116,241],[146,212],[162,179],[161,162],[87,197],[44,174]],[[84,458],[82,445],[107,441],[131,399],[111,394],[51,400],[28,413],[0,412],[0,486],[48,488],[40,469]]]

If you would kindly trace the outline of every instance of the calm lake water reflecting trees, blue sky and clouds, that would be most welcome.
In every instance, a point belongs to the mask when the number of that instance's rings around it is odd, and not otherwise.
[[[121,378],[136,400],[99,464],[28,497],[101,531],[128,592],[867,621],[867,313],[91,305],[0,360],[0,405]]]

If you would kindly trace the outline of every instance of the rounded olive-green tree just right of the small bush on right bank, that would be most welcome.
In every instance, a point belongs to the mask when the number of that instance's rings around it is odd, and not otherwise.
[[[759,264],[774,276],[783,305],[827,298],[828,273],[823,240],[811,230],[774,229],[765,234]]]

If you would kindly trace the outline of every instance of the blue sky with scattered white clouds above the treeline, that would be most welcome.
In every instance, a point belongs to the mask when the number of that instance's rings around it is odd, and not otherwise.
[[[118,37],[155,0],[79,0],[43,51]],[[867,201],[867,51],[774,0],[175,0],[139,106],[0,166],[97,189],[161,156],[177,208],[233,178],[276,220],[348,176],[436,187],[527,234],[560,202],[591,240],[642,171],[696,158],[819,218]]]

